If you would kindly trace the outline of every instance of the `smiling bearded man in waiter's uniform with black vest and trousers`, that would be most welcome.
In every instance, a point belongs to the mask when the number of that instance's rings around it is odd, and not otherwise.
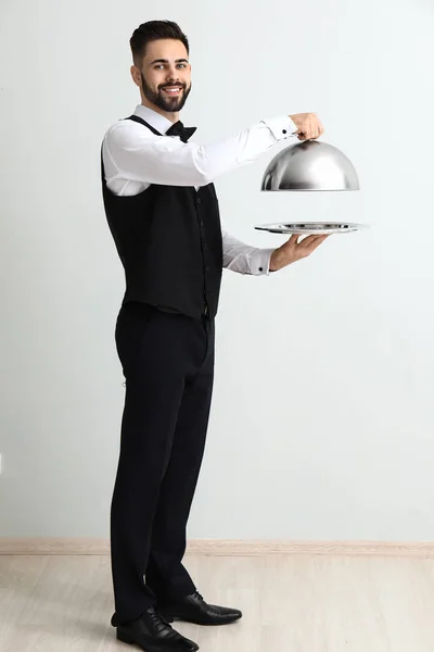
[[[148,652],[192,652],[197,645],[170,626],[175,618],[221,625],[242,615],[205,602],[182,565],[222,267],[267,275],[324,240],[294,236],[276,250],[240,242],[221,228],[213,181],[284,138],[318,138],[323,128],[315,114],[284,115],[222,142],[189,142],[194,129],[179,122],[191,90],[187,37],[154,21],[130,46],[141,104],[102,147],[104,206],[126,275],[116,323],[126,397],[111,511],[112,625],[119,640]]]

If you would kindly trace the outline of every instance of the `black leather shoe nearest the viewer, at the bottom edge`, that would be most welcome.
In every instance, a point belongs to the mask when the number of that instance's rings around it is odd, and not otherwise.
[[[199,645],[175,631],[154,606],[132,623],[118,625],[116,638],[145,652],[196,652]]]

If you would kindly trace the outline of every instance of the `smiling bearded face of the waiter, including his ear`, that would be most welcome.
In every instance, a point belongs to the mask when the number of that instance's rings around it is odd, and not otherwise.
[[[142,103],[170,121],[178,120],[191,90],[191,65],[180,40],[159,39],[148,45],[142,67],[131,67]]]

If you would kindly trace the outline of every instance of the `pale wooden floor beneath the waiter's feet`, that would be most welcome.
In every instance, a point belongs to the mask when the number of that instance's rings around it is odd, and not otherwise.
[[[201,556],[186,565],[237,624],[176,623],[204,652],[433,652],[434,560]],[[0,556],[1,652],[112,652],[108,556]]]

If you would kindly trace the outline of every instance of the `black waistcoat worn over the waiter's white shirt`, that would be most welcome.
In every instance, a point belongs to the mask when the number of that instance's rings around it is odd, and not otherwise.
[[[141,123],[136,115],[127,120]],[[196,190],[151,185],[132,197],[118,197],[106,185],[101,154],[105,215],[125,269],[129,301],[200,318],[217,313],[222,242],[214,184]]]

